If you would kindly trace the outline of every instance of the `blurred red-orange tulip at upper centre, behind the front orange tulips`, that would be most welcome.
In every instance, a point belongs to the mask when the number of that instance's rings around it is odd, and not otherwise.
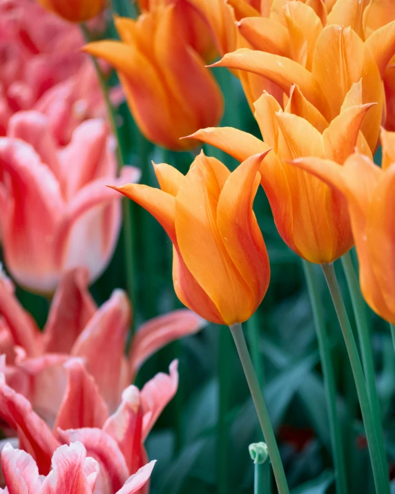
[[[84,51],[117,70],[131,113],[148,140],[186,150],[198,143],[180,137],[218,123],[223,103],[218,84],[179,29],[179,8],[177,2],[136,21],[116,18],[122,41],[97,41]]]

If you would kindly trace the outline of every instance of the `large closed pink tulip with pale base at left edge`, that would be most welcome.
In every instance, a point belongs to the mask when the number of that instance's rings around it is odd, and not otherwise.
[[[18,283],[50,293],[66,269],[86,266],[90,281],[104,271],[121,223],[121,200],[106,184],[139,179],[134,167],[115,178],[113,151],[103,120],[80,124],[61,149],[44,115],[11,117],[0,138],[0,231]]]

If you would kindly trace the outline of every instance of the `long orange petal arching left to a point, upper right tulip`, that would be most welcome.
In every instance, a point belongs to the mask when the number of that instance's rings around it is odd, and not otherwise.
[[[320,90],[320,84],[314,75],[296,61],[286,57],[240,48],[233,53],[227,53],[222,60],[213,66],[238,68],[262,75],[262,77],[278,84],[282,91],[287,94],[289,94],[292,84],[298,84],[309,102],[314,104],[324,115],[329,111],[327,101]]]

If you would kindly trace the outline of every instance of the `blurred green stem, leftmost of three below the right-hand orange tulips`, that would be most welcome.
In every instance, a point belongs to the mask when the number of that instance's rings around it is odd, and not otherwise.
[[[314,325],[316,327],[318,349],[322,365],[322,375],[324,378],[325,397],[327,401],[329,432],[331,435],[331,449],[334,457],[334,470],[336,479],[337,494],[347,494],[347,474],[345,467],[345,455],[341,428],[338,420],[338,410],[336,407],[336,385],[334,378],[334,367],[331,358],[331,347],[327,330],[325,328],[324,311],[320,300],[320,290],[314,273],[314,266],[302,260],[303,271],[307,281],[307,289],[313,311]]]

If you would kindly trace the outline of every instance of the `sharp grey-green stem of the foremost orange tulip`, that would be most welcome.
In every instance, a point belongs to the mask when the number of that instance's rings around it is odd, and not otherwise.
[[[249,355],[247,343],[244,338],[242,325],[239,323],[230,326],[233,340],[235,341],[236,348],[242,363],[249,390],[253,399],[253,403],[256,408],[264,440],[269,450],[269,457],[271,460],[271,466],[273,468],[274,477],[276,478],[276,484],[279,494],[289,494],[289,488],[287,484],[287,478],[285,477],[284,467],[280,457],[280,451],[278,450],[276,437],[271,426],[269,414],[267,412],[266,405],[260,390],[258,378],[253,368],[253,363]]]

